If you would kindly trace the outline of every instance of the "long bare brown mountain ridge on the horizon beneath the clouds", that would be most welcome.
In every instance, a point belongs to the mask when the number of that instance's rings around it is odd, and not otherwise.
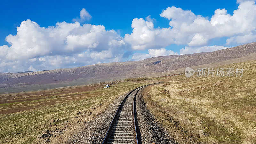
[[[141,61],[102,63],[78,68],[22,73],[0,73],[0,88],[30,84],[56,84],[72,81],[100,82],[128,77],[140,77],[185,67],[246,57],[253,53],[256,53],[256,42],[214,52],[161,56]]]

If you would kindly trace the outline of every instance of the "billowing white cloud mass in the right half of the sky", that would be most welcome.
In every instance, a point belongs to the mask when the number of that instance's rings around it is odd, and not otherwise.
[[[227,44],[244,44],[255,41],[246,39],[255,36],[256,6],[254,1],[239,1],[233,15],[226,9],[217,9],[211,19],[195,15],[189,10],[175,6],[168,7],[160,14],[170,20],[169,28],[154,28],[150,19],[136,18],[132,21],[132,34],[126,34],[124,40],[134,50],[161,48],[170,44],[188,44],[188,46],[206,46],[210,39],[227,38]],[[147,20],[146,19],[146,20]],[[238,40],[242,38],[243,40]]]

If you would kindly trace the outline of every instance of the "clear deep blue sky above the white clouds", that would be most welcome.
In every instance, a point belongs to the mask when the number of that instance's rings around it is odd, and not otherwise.
[[[107,30],[114,29],[124,34],[131,33],[132,20],[134,18],[156,19],[155,27],[168,28],[169,20],[160,17],[159,14],[168,6],[180,7],[191,10],[195,14],[211,18],[218,8],[225,8],[228,13],[233,13],[238,4],[234,0],[216,1],[3,1],[0,19],[0,45],[8,44],[4,39],[9,34],[17,33],[17,26],[23,20],[30,19],[37,22],[41,27],[55,25],[56,22],[72,22],[82,8],[85,8],[92,19],[84,23],[104,25]],[[225,44],[225,41],[214,41],[212,44]],[[182,46],[173,45],[169,49],[178,52]]]

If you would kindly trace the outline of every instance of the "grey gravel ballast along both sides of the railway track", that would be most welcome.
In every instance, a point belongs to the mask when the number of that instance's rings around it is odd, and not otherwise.
[[[104,112],[102,112],[92,121],[84,124],[84,126],[81,127],[80,132],[73,135],[69,140],[66,140],[65,143],[102,143],[116,109],[129,92],[126,92],[115,99]],[[134,96],[136,92],[137,90],[132,92],[131,96]],[[161,124],[155,121],[153,115],[147,109],[141,92],[143,92],[143,89],[141,89],[137,94],[135,111],[138,119],[137,132],[139,133],[139,143],[176,144],[176,142],[170,138],[168,132],[161,126]]]

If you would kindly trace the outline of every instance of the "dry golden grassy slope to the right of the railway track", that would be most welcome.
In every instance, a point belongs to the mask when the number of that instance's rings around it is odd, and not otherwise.
[[[159,77],[163,84],[145,90],[148,108],[178,142],[256,143],[256,61],[222,68],[244,74]]]

